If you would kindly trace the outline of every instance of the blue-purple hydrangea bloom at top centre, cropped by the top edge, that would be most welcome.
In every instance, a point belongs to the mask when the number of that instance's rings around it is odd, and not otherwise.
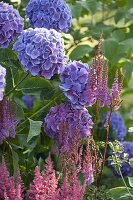
[[[70,8],[64,0],[30,0],[26,15],[33,28],[66,32],[72,23]]]

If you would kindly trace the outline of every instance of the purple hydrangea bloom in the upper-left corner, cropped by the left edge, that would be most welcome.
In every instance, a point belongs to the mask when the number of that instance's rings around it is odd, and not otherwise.
[[[7,48],[20,34],[24,20],[13,6],[0,2],[0,47]]]

